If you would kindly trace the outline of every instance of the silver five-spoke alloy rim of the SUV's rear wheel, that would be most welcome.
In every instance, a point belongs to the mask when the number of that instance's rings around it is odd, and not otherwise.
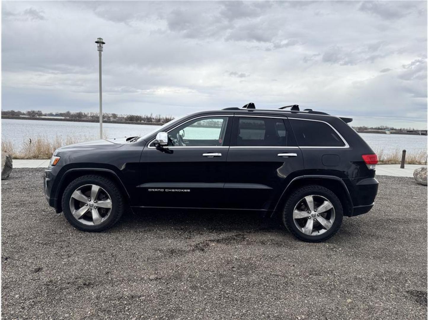
[[[310,195],[297,202],[293,221],[304,234],[318,236],[327,232],[336,217],[333,204],[323,196]]]

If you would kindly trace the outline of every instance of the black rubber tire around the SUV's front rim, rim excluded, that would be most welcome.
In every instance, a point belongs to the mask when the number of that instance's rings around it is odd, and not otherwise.
[[[74,218],[70,209],[70,198],[74,190],[88,184],[95,184],[101,187],[108,193],[111,199],[110,214],[107,216],[105,221],[98,225],[86,225],[79,222]],[[84,175],[73,180],[64,190],[64,193],[62,194],[62,210],[64,211],[65,218],[74,226],[74,228],[82,231],[99,232],[111,228],[120,219],[125,210],[125,205],[123,195],[113,181],[99,175]]]

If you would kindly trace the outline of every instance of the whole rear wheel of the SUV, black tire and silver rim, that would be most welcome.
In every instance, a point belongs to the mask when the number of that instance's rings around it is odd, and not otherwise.
[[[294,191],[285,202],[282,221],[295,237],[320,242],[339,231],[343,207],[331,190],[310,185]]]

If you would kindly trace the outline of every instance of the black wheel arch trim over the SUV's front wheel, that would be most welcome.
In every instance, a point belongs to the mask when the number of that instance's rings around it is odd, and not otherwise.
[[[117,173],[113,170],[105,168],[72,168],[64,172],[61,180],[59,181],[58,187],[56,188],[55,211],[57,213],[62,212],[62,195],[64,194],[64,190],[67,185],[74,179],[90,174],[99,175],[112,180],[114,183],[116,183],[119,190],[125,196],[125,199],[129,201],[130,196],[128,190],[126,190],[125,185],[119,178],[119,175],[117,175]]]

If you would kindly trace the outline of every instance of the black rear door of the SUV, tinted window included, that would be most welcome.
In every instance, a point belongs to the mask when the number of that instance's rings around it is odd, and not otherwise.
[[[273,209],[285,186],[303,175],[303,156],[288,120],[235,115],[226,170],[227,207]]]

